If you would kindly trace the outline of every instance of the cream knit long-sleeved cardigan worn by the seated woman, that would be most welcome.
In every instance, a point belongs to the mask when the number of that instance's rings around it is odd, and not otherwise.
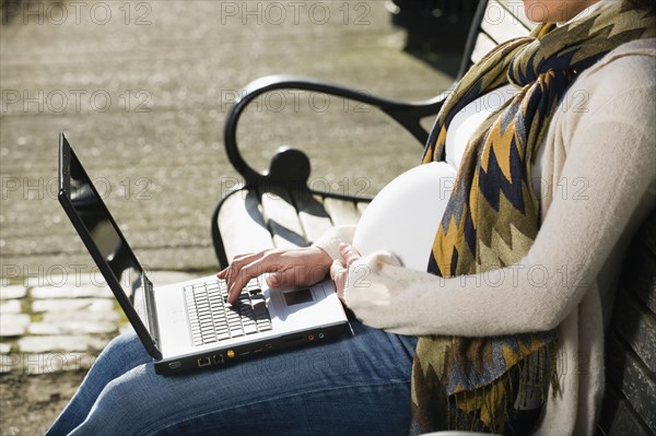
[[[655,71],[656,39],[632,42],[567,91],[543,145],[542,224],[522,262],[441,279],[377,251],[351,268],[347,305],[365,325],[400,334],[558,328],[559,390],[549,393],[537,434],[593,434],[622,254],[656,204]],[[315,246],[338,258],[353,233],[336,227]]]

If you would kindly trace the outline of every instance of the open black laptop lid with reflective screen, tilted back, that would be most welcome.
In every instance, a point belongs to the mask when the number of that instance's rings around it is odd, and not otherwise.
[[[156,334],[145,327],[145,307],[138,314],[132,304],[136,295],[141,301],[151,291],[150,283],[63,133],[59,137],[59,202],[147,350],[161,358]],[[151,331],[156,329],[151,326]]]

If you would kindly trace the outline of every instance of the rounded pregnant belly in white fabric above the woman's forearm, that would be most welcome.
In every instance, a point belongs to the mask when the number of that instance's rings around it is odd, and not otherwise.
[[[364,256],[391,251],[405,267],[425,271],[455,178],[456,170],[444,162],[401,174],[364,211],[353,246]]]

